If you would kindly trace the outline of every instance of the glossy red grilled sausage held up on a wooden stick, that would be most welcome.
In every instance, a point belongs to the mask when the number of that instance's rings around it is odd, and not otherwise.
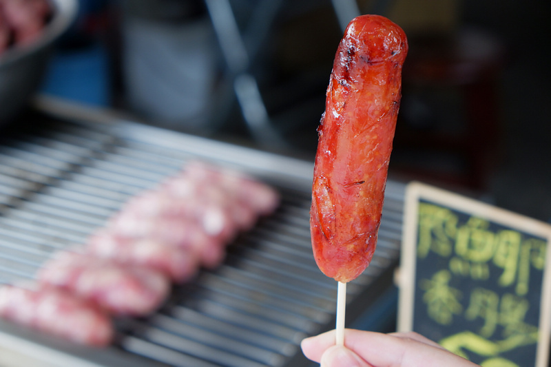
[[[337,48],[318,127],[311,237],[320,270],[349,282],[377,242],[408,43],[377,15],[349,23]]]

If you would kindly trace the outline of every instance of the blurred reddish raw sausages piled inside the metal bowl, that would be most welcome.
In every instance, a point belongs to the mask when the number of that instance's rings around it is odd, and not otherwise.
[[[0,54],[38,39],[51,11],[47,0],[0,0]]]

